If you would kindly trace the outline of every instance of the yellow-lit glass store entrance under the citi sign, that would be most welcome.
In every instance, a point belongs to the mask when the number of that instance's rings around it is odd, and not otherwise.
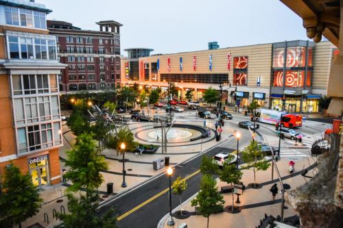
[[[29,173],[34,186],[42,188],[49,184],[49,164],[47,155],[34,157],[29,160]]]

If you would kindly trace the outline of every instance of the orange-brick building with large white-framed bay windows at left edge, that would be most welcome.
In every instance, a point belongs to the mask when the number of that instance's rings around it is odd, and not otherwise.
[[[56,36],[51,10],[34,1],[0,1],[0,176],[11,163],[35,186],[60,182],[62,147]]]

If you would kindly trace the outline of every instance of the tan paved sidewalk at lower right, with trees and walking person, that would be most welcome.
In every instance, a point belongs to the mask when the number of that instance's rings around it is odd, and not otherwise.
[[[296,170],[295,176],[289,177],[288,173],[288,165],[287,160],[281,160],[277,162],[277,166],[279,167],[279,171],[281,177],[285,177],[286,179],[283,180],[283,183],[287,183],[290,186],[290,189],[297,188],[305,183],[304,177],[301,175],[296,175],[297,172],[302,170],[303,166],[308,167],[309,165],[313,164],[314,160],[298,160],[296,162]],[[248,183],[253,182],[253,172],[252,170],[243,170],[243,177],[242,180],[244,185],[247,187]],[[264,214],[272,215],[274,217],[281,214],[281,186],[277,179],[276,173],[274,172],[274,183],[277,183],[279,188],[279,194],[276,195],[275,203],[272,203],[272,194],[270,192],[271,186],[274,184],[271,181],[271,173],[272,168],[270,167],[267,171],[259,171],[257,172],[257,183],[261,183],[263,185],[262,188],[259,189],[252,189],[248,188],[244,190],[243,194],[239,197],[241,203],[235,203],[235,206],[239,206],[241,209],[240,213],[237,214],[230,214],[227,212],[227,209],[230,210],[232,205],[232,194],[231,193],[224,193],[224,212],[219,214],[212,214],[209,220],[209,227],[211,228],[222,228],[222,227],[256,227],[259,225],[259,220],[264,218]],[[227,183],[224,183],[217,179],[217,187],[220,190],[220,187],[227,186]],[[287,190],[285,190],[285,194],[287,194]],[[176,197],[173,195],[173,197]],[[194,195],[191,199],[196,197]],[[177,219],[174,218],[175,225],[173,227],[178,227],[182,223],[187,223],[188,227],[206,227],[207,220],[203,216],[200,215],[193,215],[194,207],[191,207],[191,199],[187,199],[185,203],[182,204],[182,208],[191,212],[191,216],[186,219]],[[235,195],[235,201],[237,200],[237,196]],[[227,208],[228,207],[228,208]],[[173,210],[174,212],[178,212],[180,207],[176,207]],[[285,210],[284,210],[284,218],[289,216],[294,216],[296,213],[292,210],[292,208],[285,203]],[[167,223],[168,215],[164,216],[159,223],[158,228],[169,228]]]

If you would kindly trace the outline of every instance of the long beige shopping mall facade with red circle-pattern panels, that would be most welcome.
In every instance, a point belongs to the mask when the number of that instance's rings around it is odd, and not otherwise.
[[[202,99],[209,87],[220,90],[228,105],[246,107],[252,101],[265,108],[288,112],[318,112],[318,101],[327,93],[331,60],[336,47],[331,42],[305,40],[263,45],[228,47],[139,58],[139,78],[132,78],[127,60],[121,60],[121,84],[134,83],[167,90],[174,82],[183,99],[193,89]],[[237,94],[237,100],[232,94]]]

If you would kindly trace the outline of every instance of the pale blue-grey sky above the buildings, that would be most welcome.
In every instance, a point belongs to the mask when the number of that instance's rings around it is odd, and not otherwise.
[[[36,0],[53,10],[47,19],[98,30],[97,21],[117,21],[121,54],[133,47],[156,53],[307,40],[302,19],[279,0]]]

